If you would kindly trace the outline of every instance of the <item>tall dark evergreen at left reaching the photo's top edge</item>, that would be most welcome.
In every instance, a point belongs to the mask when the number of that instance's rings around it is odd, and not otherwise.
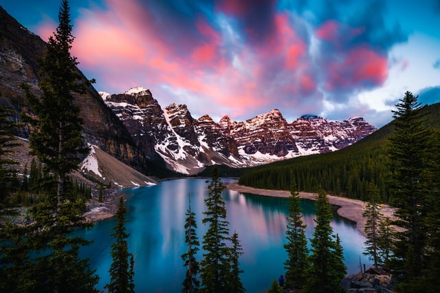
[[[87,154],[89,149],[84,147],[81,136],[80,108],[74,104],[75,94],[85,93],[87,88],[76,68],[78,62],[70,54],[74,36],[67,0],[61,2],[58,21],[58,28],[54,36],[50,36],[47,54],[40,64],[39,88],[43,95],[38,97],[32,94],[28,85],[23,85],[30,109],[38,117],[24,115],[23,120],[37,129],[30,134],[31,154],[54,174],[59,205],[63,203],[67,174],[78,167],[80,155]]]

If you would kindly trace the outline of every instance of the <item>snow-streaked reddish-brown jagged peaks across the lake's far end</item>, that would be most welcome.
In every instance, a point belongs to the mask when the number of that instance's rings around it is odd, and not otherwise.
[[[341,122],[302,116],[289,123],[277,109],[243,122],[225,116],[217,123],[208,115],[196,120],[186,105],[160,107],[143,87],[100,95],[140,149],[150,158],[159,155],[169,169],[186,174],[212,164],[254,166],[336,151],[376,130],[360,117]]]

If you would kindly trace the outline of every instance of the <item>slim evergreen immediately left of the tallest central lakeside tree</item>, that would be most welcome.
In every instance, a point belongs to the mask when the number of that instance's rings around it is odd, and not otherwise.
[[[188,250],[181,254],[181,259],[184,261],[186,269],[185,279],[182,282],[182,292],[192,293],[197,292],[199,289],[199,262],[196,259],[197,251],[199,251],[199,238],[197,237],[197,221],[195,219],[195,213],[191,211],[191,203],[186,210],[185,220],[185,242],[188,244]]]

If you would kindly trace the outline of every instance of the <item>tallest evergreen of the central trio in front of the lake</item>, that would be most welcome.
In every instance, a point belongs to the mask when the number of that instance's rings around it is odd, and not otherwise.
[[[212,180],[208,184],[209,195],[205,199],[207,210],[203,224],[208,230],[203,235],[203,259],[200,263],[202,292],[228,292],[230,280],[229,223],[226,221],[225,202],[221,193],[225,186],[218,175],[217,166],[212,169]]]

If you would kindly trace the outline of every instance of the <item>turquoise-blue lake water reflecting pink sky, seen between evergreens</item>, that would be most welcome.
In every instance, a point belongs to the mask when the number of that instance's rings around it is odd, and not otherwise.
[[[230,179],[225,179],[226,182]],[[197,236],[200,249],[207,227],[201,224],[202,212],[206,210],[203,199],[208,195],[204,179],[181,179],[162,182],[157,186],[130,188],[121,191],[126,196],[126,230],[129,252],[135,259],[136,292],[180,292],[185,268],[180,255],[186,251],[184,221],[191,197],[191,209],[196,213]],[[267,292],[274,279],[284,274],[283,263],[287,253],[286,242],[287,199],[249,195],[235,191],[223,191],[228,210],[230,235],[239,234],[244,254],[240,258],[241,281],[247,292]],[[314,202],[303,200],[303,221],[307,224],[306,235],[314,232]],[[109,283],[112,262],[110,245],[113,219],[95,224],[91,230],[79,230],[78,234],[94,243],[83,248],[81,257],[89,257],[92,268],[100,276],[98,289]],[[335,213],[331,222],[344,247],[348,274],[359,271],[362,263],[370,265],[363,252],[364,237],[353,221]],[[202,251],[199,250],[198,259]]]

